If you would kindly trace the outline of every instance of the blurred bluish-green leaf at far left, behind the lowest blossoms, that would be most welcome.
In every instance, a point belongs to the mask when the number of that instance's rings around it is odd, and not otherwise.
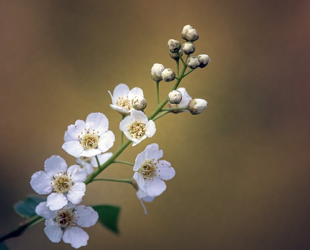
[[[26,197],[24,201],[19,201],[14,204],[14,210],[21,217],[31,218],[35,216],[35,207],[41,203],[45,202],[46,198],[42,198],[39,196],[30,195]]]

